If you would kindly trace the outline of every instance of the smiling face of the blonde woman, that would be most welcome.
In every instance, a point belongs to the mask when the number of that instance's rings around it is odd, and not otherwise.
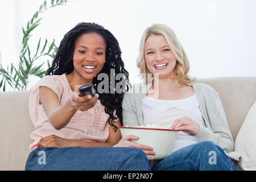
[[[176,58],[163,35],[150,35],[144,44],[144,58],[148,70],[159,78],[174,78]]]

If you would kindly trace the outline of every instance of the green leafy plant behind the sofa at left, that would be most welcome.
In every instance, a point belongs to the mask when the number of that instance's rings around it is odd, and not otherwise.
[[[39,57],[47,56],[48,58],[54,59],[58,47],[55,45],[55,39],[49,44],[48,40],[45,39],[42,44],[41,38],[38,41],[38,46],[34,55],[32,56],[28,40],[30,40],[31,32],[39,26],[42,18],[39,18],[44,11],[51,9],[52,7],[65,5],[67,0],[51,0],[51,4],[47,6],[47,0],[40,5],[39,10],[32,16],[31,20],[27,22],[27,27],[22,27],[23,39],[22,47],[20,49],[19,64],[7,65],[7,69],[2,67],[1,53],[0,53],[0,91],[5,92],[6,84],[8,84],[13,90],[26,90],[28,84],[28,76],[34,75],[42,78],[46,71],[42,69],[42,66],[46,64],[46,61],[40,65],[35,65],[36,60]],[[43,46],[42,46],[43,45]],[[46,47],[48,46],[48,49]],[[40,50],[39,50],[40,49]],[[48,68],[50,67],[49,60],[47,59]]]

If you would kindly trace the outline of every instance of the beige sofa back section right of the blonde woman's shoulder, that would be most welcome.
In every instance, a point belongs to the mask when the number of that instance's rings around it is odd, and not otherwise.
[[[198,80],[212,86],[221,99],[229,129],[236,140],[238,131],[256,101],[256,77],[218,77]]]

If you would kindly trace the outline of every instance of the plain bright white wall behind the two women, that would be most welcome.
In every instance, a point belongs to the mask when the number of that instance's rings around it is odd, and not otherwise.
[[[18,63],[22,26],[42,2],[0,2],[3,65]],[[44,14],[30,45],[36,48],[40,36],[59,44],[79,22],[101,24],[118,39],[131,82],[140,82],[134,68],[142,32],[153,23],[163,23],[176,32],[187,52],[191,76],[256,76],[255,7],[255,0],[71,0]],[[31,78],[28,89],[37,80]]]

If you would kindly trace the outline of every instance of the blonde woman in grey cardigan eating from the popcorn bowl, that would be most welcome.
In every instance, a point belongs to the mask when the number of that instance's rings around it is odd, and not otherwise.
[[[188,57],[174,31],[163,24],[146,28],[139,51],[144,84],[125,94],[123,125],[156,123],[180,131],[171,154],[160,161],[150,146],[130,141],[133,135],[117,146],[141,148],[153,160],[152,170],[236,170],[233,161],[239,156],[232,152],[234,140],[218,93],[188,76]],[[146,92],[138,93],[145,86]]]

